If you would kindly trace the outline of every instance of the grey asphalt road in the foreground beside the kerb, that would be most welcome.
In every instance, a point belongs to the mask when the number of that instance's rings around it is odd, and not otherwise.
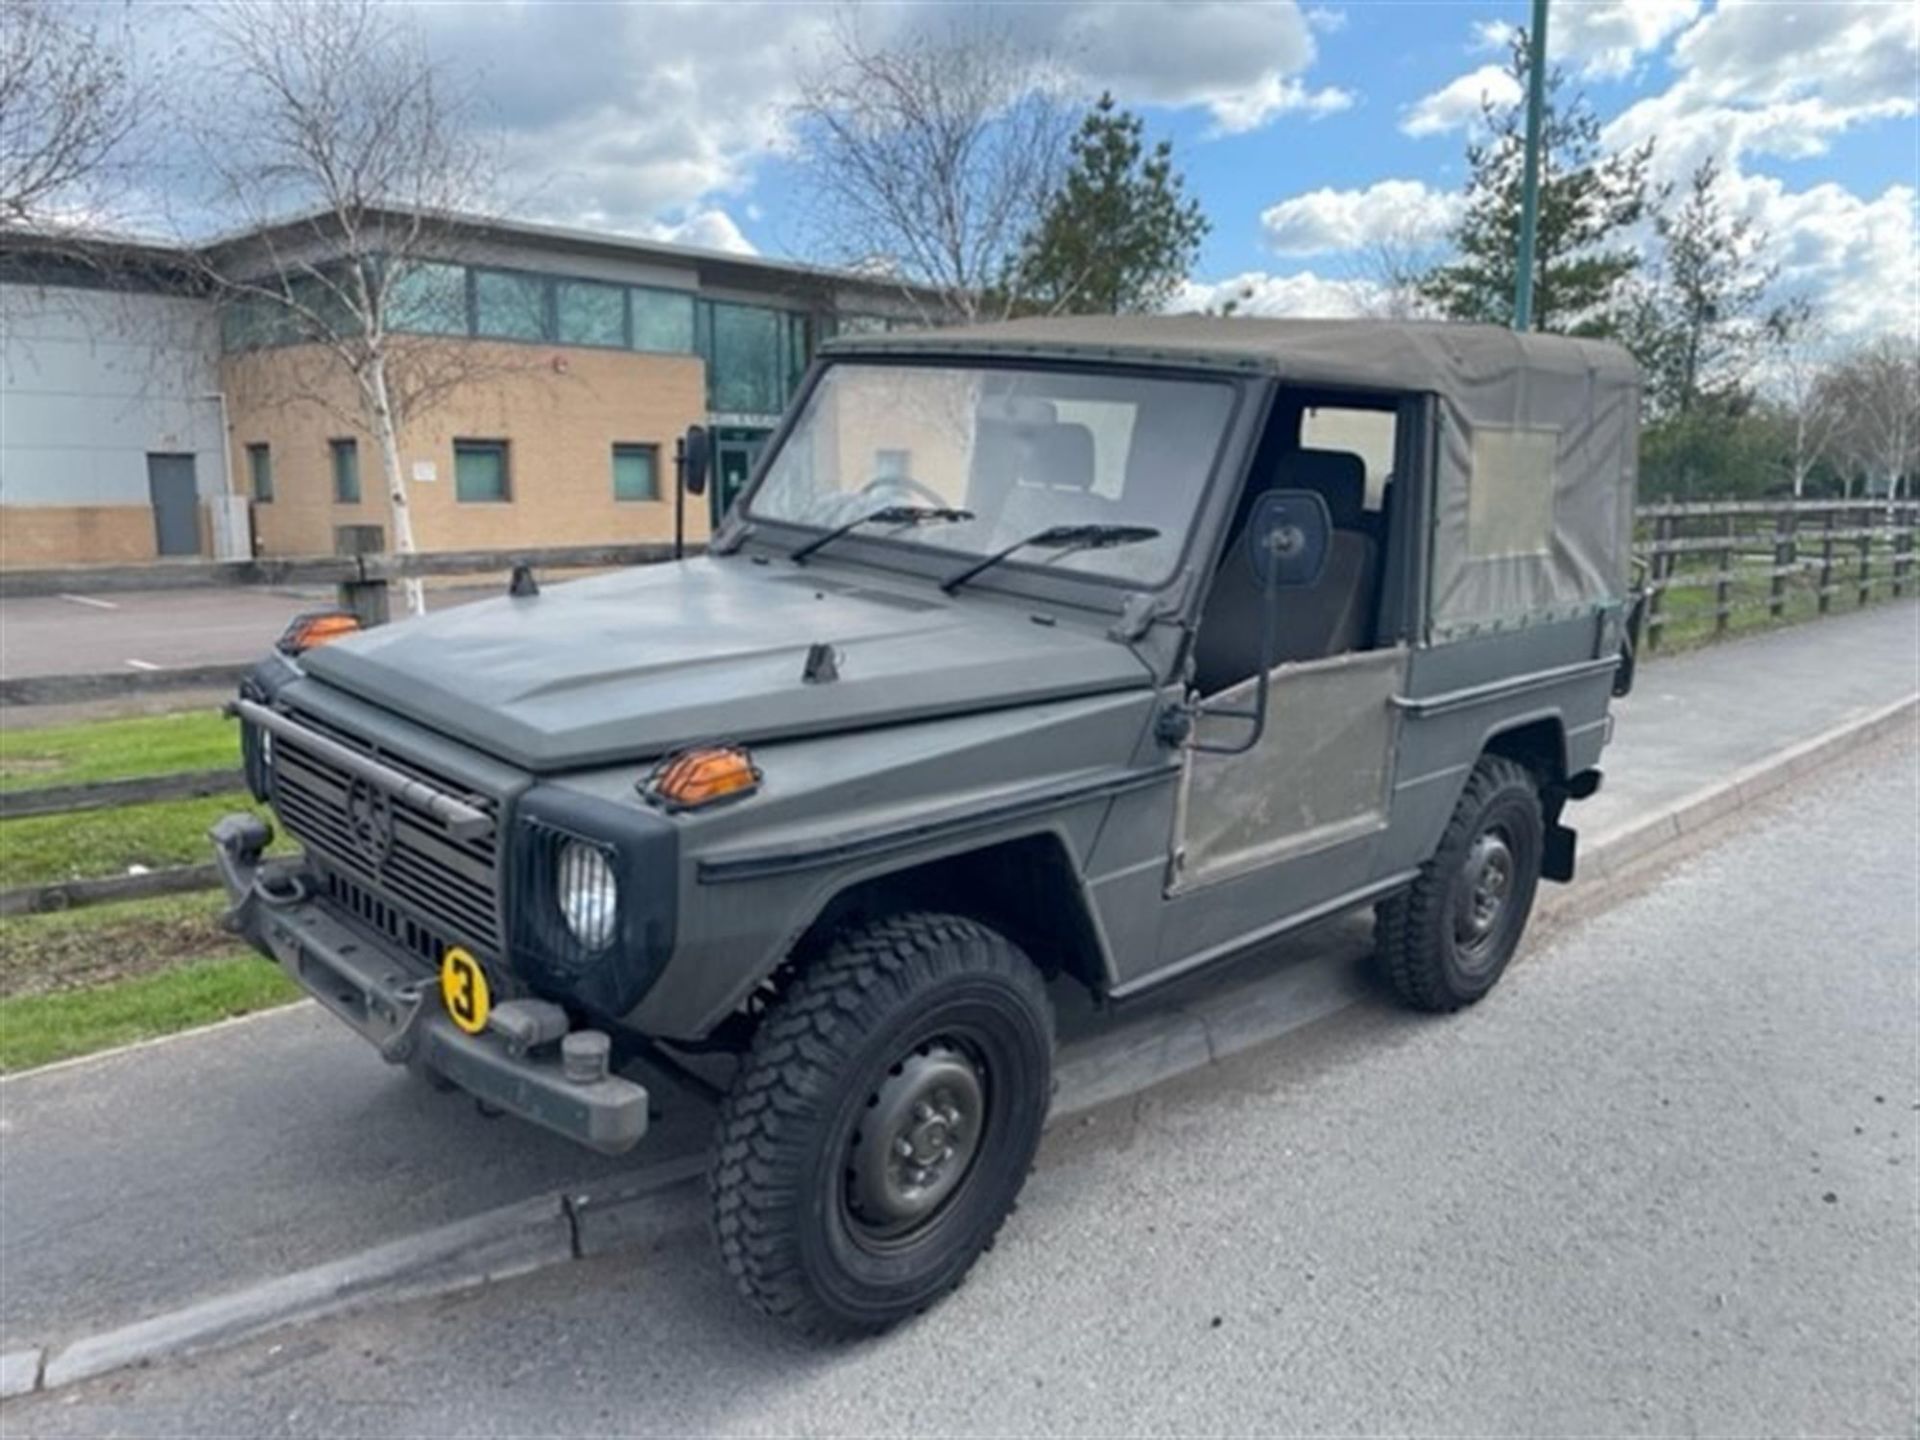
[[[12,1402],[27,1434],[1912,1434],[1920,760],[1745,812],[1482,1006],[1056,1129],[877,1342],[691,1236]]]

